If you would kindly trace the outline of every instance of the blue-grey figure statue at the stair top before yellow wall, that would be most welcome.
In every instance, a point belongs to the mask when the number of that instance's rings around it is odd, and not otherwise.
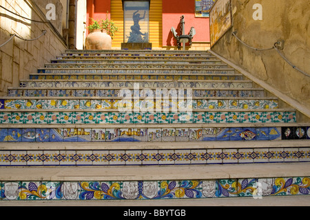
[[[143,17],[140,17],[138,10],[134,12],[132,16],[132,19],[134,20],[134,25],[132,25],[132,27],[130,28],[132,32],[130,32],[128,43],[142,43],[142,42],[145,42],[145,40],[147,40],[147,33],[143,34],[141,32],[141,28],[139,25],[139,21],[145,19],[145,13],[146,11],[144,12]],[[142,36],[145,36],[144,39],[142,39]]]

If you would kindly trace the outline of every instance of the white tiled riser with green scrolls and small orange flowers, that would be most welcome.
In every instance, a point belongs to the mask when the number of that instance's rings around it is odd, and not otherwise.
[[[214,124],[294,123],[294,111],[119,113],[100,111],[0,112],[1,124]]]

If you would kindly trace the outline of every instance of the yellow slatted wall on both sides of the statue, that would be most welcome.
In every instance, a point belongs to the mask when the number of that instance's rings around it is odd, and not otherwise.
[[[149,10],[149,43],[152,43],[153,48],[163,46],[162,12],[162,0],[152,0]],[[111,19],[119,29],[113,38],[112,47],[119,49],[124,42],[124,15],[121,0],[111,0]]]

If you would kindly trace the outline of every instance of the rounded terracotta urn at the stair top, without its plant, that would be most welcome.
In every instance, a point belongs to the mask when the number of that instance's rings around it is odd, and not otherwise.
[[[112,39],[106,30],[93,30],[85,40],[86,50],[111,50]]]

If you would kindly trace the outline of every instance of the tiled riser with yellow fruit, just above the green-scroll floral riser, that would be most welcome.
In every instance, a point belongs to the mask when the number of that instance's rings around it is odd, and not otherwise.
[[[158,99],[158,100],[156,100]],[[161,96],[154,97],[154,100],[147,100],[144,98],[139,98],[139,100],[125,100],[132,103],[132,109],[134,107],[142,107],[143,104],[149,104],[149,107],[160,107],[160,109],[165,108],[170,111],[172,108],[182,108],[187,104],[190,109],[278,109],[278,100],[268,100],[268,99],[193,99],[187,100],[187,98],[178,98],[174,100],[163,100]],[[0,109],[23,109],[23,110],[40,110],[40,109],[118,109],[123,103],[121,98],[118,99],[0,99]]]

